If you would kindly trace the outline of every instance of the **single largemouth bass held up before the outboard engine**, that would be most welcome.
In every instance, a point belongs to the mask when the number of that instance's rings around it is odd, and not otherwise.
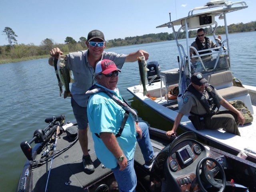
[[[143,86],[143,95],[145,96],[148,93],[146,84],[148,84],[147,71],[149,71],[149,69],[147,68],[147,62],[144,56],[138,57],[138,64],[140,70],[140,84]]]

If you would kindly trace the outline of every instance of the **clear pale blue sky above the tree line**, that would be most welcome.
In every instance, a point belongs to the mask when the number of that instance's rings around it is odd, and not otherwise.
[[[87,38],[90,30],[104,32],[106,40],[168,32],[156,28],[171,19],[188,15],[209,0],[0,0],[0,45],[8,44],[2,31],[10,27],[18,44],[40,45],[46,38],[64,43]],[[235,1],[235,0],[234,0]],[[256,21],[256,1],[245,0],[248,8],[227,14],[228,24]],[[218,23],[223,25],[223,23]]]

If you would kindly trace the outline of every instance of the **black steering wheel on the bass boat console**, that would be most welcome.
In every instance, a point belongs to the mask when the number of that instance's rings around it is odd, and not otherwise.
[[[208,160],[214,162],[216,166],[214,166],[214,168],[209,168],[209,166],[207,166]],[[201,173],[200,173],[200,170],[202,170]],[[214,176],[216,176],[216,174],[219,171],[222,179],[221,184],[216,182],[216,180],[214,179]],[[196,178],[198,181],[198,185],[203,192],[207,192],[207,191],[204,188],[204,185],[202,184],[202,180],[212,185],[214,188],[217,188],[218,192],[223,192],[226,187],[226,175],[225,175],[224,169],[216,159],[211,157],[202,158],[200,162],[198,162],[196,166]]]

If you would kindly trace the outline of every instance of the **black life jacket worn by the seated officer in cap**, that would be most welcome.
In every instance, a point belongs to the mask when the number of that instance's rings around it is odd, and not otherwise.
[[[192,84],[190,84],[188,86],[186,91],[189,91],[192,94],[194,94],[194,96],[196,96],[196,98],[198,98],[198,100],[200,101],[202,106],[205,108],[208,116],[212,116],[212,115],[216,114],[216,112],[215,112],[216,108],[218,108],[218,110],[219,110],[220,102],[216,97],[216,92],[214,91],[214,86],[207,84],[207,83],[205,84],[205,86],[206,86],[206,91],[209,94],[209,99],[206,99],[202,93],[200,93],[198,90],[196,90],[194,88],[194,86],[192,86]],[[186,91],[185,91],[185,93],[186,93]],[[213,104],[213,107],[211,109],[212,104]],[[190,112],[190,113],[192,113],[192,112]],[[198,114],[194,114],[194,113],[192,113],[192,114],[198,115]]]

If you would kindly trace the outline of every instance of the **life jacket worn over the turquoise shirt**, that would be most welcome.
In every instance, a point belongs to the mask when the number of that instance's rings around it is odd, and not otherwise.
[[[122,131],[124,129],[124,126],[126,124],[126,121],[128,119],[129,114],[131,113],[132,116],[134,117],[135,122],[138,122],[138,116],[135,110],[133,110],[129,104],[127,102],[123,102],[121,101],[117,96],[115,96],[112,92],[109,92],[108,90],[97,86],[96,84],[94,84],[93,86],[91,86],[87,91],[86,91],[86,95],[89,97],[92,94],[98,93],[98,92],[104,92],[106,93],[110,98],[112,98],[118,105],[120,105],[124,110],[125,110],[125,114],[124,114],[124,118],[122,120],[122,124],[119,128],[118,133],[115,135],[116,137],[121,136]],[[124,100],[124,98],[122,98]],[[124,100],[125,101],[125,100]],[[100,138],[100,136],[97,133],[94,133],[98,138]]]

